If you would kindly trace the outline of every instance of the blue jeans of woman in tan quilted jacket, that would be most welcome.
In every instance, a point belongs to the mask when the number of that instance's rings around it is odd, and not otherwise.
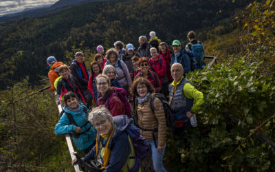
[[[156,172],[166,171],[166,169],[164,169],[164,166],[162,164],[162,159],[164,156],[166,144],[164,144],[164,149],[162,151],[157,152],[157,147],[155,147],[154,140],[146,140],[146,141],[148,142],[148,144],[150,146],[149,153],[152,157],[155,171]],[[155,141],[157,142],[157,140],[155,140]],[[157,145],[158,145],[158,143],[157,143]]]

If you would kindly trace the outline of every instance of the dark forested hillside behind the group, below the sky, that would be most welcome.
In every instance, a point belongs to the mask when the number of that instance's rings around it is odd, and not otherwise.
[[[95,50],[111,47],[114,41],[133,43],[154,30],[169,45],[173,39],[186,40],[189,30],[203,31],[232,17],[248,1],[107,1],[73,6],[34,19],[18,19],[0,26],[0,89],[30,76],[35,83],[47,75],[47,56],[67,61],[72,46]],[[206,32],[198,33],[203,41]],[[12,82],[14,81],[14,82]]]

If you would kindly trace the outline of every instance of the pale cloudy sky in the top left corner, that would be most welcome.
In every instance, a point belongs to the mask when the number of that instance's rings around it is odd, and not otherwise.
[[[35,8],[54,4],[58,0],[0,0],[0,17],[5,14],[21,12],[25,8]]]

